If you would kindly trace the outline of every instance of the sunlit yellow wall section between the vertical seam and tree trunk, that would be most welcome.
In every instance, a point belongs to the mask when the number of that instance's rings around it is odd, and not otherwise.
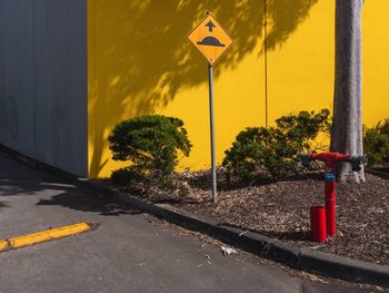
[[[281,2],[278,1],[279,4]],[[333,32],[335,1],[321,0],[282,46],[269,50],[267,76],[270,123],[291,111],[331,109]]]

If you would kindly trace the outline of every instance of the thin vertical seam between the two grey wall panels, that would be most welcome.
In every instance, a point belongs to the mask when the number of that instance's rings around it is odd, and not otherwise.
[[[36,64],[36,1],[32,2],[32,127],[33,127],[33,155],[37,157],[37,64]]]

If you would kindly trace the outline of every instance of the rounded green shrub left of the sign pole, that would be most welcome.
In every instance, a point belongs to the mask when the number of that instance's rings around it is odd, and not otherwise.
[[[182,120],[159,115],[124,120],[108,140],[113,159],[129,164],[112,173],[112,179],[121,185],[170,176],[179,155],[189,156],[192,146]]]

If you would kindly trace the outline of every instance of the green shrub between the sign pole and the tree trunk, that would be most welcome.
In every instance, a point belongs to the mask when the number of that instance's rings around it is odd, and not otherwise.
[[[228,178],[251,179],[259,169],[266,169],[272,177],[296,172],[296,155],[310,152],[312,140],[329,125],[329,110],[323,109],[318,114],[301,111],[280,117],[276,127],[245,129],[226,150],[222,165]]]

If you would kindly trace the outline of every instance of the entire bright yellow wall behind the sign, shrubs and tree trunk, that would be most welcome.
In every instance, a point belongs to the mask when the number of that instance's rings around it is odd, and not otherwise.
[[[379,29],[388,22],[388,2],[366,1],[363,110],[369,125],[389,116],[389,38]],[[109,176],[119,167],[107,143],[114,125],[154,113],[186,124],[194,147],[181,168],[209,166],[207,64],[187,40],[207,10],[235,40],[215,69],[218,163],[241,129],[265,125],[266,101],[270,124],[291,111],[332,107],[333,1],[89,0],[90,177]]]

